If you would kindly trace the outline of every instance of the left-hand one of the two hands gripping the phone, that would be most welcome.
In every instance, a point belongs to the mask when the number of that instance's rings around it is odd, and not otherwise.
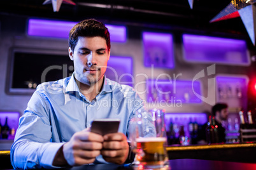
[[[70,166],[81,166],[94,162],[102,148],[103,136],[84,129],[63,145],[63,155]]]

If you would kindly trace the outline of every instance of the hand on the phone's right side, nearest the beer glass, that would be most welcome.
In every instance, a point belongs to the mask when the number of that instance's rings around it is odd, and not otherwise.
[[[103,155],[104,160],[115,164],[123,164],[129,154],[127,138],[123,133],[110,133],[103,136]]]

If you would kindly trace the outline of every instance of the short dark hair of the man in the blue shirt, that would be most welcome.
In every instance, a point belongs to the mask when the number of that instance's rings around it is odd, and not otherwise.
[[[76,25],[69,32],[69,47],[74,52],[79,37],[103,37],[110,51],[110,32],[104,23],[95,19],[87,19]]]

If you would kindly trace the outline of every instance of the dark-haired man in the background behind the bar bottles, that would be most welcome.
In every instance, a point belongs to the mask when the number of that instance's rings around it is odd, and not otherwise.
[[[225,143],[225,128],[222,127],[222,121],[227,121],[228,105],[226,103],[216,103],[211,108],[211,113],[215,117],[215,124],[218,126],[218,143]],[[206,144],[207,122],[199,130],[198,144]]]

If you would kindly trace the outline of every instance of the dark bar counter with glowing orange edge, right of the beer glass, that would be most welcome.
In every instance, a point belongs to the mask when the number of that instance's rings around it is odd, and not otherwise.
[[[169,146],[169,159],[204,159],[256,163],[256,143]]]

